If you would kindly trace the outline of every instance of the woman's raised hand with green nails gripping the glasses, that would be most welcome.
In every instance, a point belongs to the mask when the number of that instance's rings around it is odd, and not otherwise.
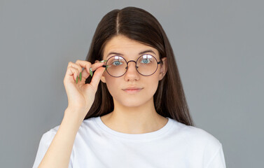
[[[95,64],[91,64],[83,60],[77,60],[76,63],[69,62],[68,64],[64,77],[64,87],[68,97],[67,108],[75,109],[78,111],[78,115],[83,118],[85,118],[95,100],[95,92],[105,69],[102,65],[104,65],[104,62],[96,61]],[[95,71],[95,74],[92,74],[91,82],[85,84],[85,79],[90,76],[90,68]],[[81,72],[82,76],[79,76]],[[77,76],[78,83],[76,83]]]

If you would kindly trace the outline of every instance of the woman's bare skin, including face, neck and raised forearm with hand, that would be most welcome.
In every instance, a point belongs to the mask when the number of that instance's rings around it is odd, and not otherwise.
[[[122,53],[125,59],[136,60],[139,52],[153,50],[158,61],[158,50],[148,45],[132,41],[125,36],[113,37],[104,48],[104,59],[109,52]],[[99,80],[106,83],[109,92],[113,96],[114,110],[102,116],[104,124],[117,132],[127,134],[143,134],[160,130],[167,124],[167,118],[160,116],[154,108],[153,95],[161,80],[167,72],[167,59],[162,59],[164,64],[158,66],[152,76],[141,76],[135,69],[134,62],[128,64],[127,73],[119,78],[110,76],[104,68],[104,63],[97,61],[95,64],[77,60],[69,62],[67,73],[64,77],[64,86],[68,96],[68,107],[64,112],[62,123],[51,142],[48,151],[41,160],[39,167],[68,167],[71,150],[78,129],[85,118],[87,111],[95,99],[95,92]],[[90,84],[85,84],[85,78],[90,75],[90,67],[95,71]],[[82,80],[76,83],[77,75],[83,71]],[[144,87],[140,92],[127,94],[122,89],[129,85]]]

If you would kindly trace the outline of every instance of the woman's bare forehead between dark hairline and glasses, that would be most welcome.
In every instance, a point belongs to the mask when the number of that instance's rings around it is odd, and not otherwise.
[[[134,41],[126,36],[118,35],[111,38],[104,47],[104,58],[110,56],[110,52],[118,52],[121,53],[124,57],[139,56],[139,53],[144,50],[153,50],[155,54],[149,53],[154,57],[158,57],[158,50],[152,48],[149,45],[145,45],[143,43],[139,43],[138,41]]]

